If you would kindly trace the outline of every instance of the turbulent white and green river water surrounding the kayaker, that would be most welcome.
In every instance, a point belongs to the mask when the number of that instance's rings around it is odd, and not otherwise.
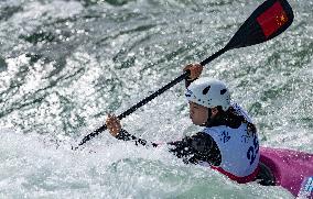
[[[261,2],[2,0],[0,198],[292,198],[107,132],[71,150],[107,113],[121,113],[222,48]],[[226,53],[203,76],[229,85],[261,145],[313,153],[313,2],[290,3],[288,31]],[[122,124],[149,141],[173,141],[198,130],[187,111],[181,84]]]

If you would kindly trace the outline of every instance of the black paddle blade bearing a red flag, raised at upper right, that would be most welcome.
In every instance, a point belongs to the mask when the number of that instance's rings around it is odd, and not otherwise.
[[[226,48],[239,48],[259,44],[278,36],[293,21],[293,12],[287,0],[267,0],[246,20]]]

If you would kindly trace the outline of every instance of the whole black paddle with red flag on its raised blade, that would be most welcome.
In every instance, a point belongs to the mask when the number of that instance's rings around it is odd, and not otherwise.
[[[259,5],[257,10],[255,10],[255,12],[246,20],[246,22],[239,27],[239,30],[224,48],[207,57],[199,64],[204,66],[229,49],[250,46],[271,40],[285,31],[292,21],[293,12],[287,0],[267,0]],[[144,106],[177,82],[185,79],[187,76],[188,73],[185,71],[168,85],[153,92],[151,96],[144,98],[123,113],[119,114],[117,118],[119,120],[126,118],[134,112],[138,108]],[[87,141],[105,130],[107,130],[106,125],[95,130],[93,133],[86,135],[78,146],[85,144]],[[75,148],[78,148],[78,146]]]

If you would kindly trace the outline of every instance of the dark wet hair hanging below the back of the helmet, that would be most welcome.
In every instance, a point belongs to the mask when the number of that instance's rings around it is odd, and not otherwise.
[[[212,128],[218,125],[226,125],[231,129],[238,129],[241,125],[241,123],[247,123],[248,126],[247,133],[248,134],[257,133],[256,125],[251,122],[248,122],[244,115],[238,114],[233,107],[230,107],[227,111],[224,111],[223,108],[218,106],[217,110],[218,113],[216,114],[216,117],[211,119],[212,109],[208,109],[208,120],[204,124],[205,126]]]

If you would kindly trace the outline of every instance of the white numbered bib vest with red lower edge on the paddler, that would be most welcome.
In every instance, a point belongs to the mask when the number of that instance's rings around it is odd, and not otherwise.
[[[238,114],[251,122],[251,119],[238,104],[231,104],[231,107]],[[219,125],[203,130],[204,133],[213,137],[222,156],[220,165],[211,167],[238,183],[253,180],[252,178],[258,173],[260,158],[258,136],[257,133],[249,134],[247,131],[247,123],[241,123],[238,129]]]

